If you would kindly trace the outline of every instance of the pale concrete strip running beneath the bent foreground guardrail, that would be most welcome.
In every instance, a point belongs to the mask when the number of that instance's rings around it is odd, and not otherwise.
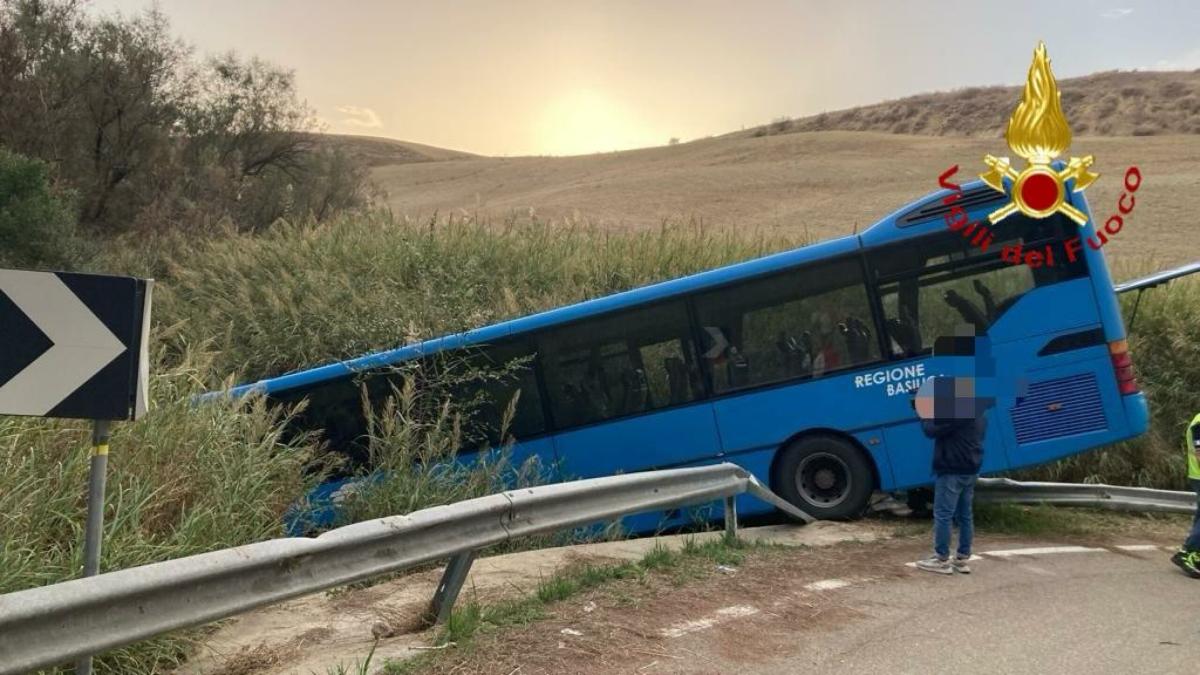
[[[851,540],[892,537],[894,527],[877,521],[774,525],[744,528],[745,540],[773,545],[830,546]],[[606,566],[642,558],[656,546],[678,550],[719,533],[604,542],[484,557],[472,567],[460,604],[497,603],[536,591],[556,572],[584,565]],[[338,589],[280,603],[224,622],[209,634],[180,675],[324,674],[362,661],[372,663],[425,653],[438,631],[422,629],[419,619],[442,575],[442,568],[408,574],[370,587]],[[336,670],[335,670],[336,671]]]

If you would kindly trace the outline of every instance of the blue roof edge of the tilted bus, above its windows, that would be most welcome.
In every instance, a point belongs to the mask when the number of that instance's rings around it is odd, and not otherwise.
[[[979,190],[980,186],[983,186],[983,181],[978,180],[962,185],[964,203],[967,204],[968,213],[983,209],[996,198],[1006,198],[1003,195],[986,189],[988,192],[995,196],[989,201]],[[590,300],[583,300],[562,307],[503,321],[500,323],[467,330],[464,333],[433,338],[431,340],[413,342],[394,350],[372,352],[348,360],[334,362],[312,369],[299,370],[277,377],[259,380],[258,382],[240,384],[228,392],[212,392],[205,394],[203,398],[206,399],[224,395],[241,396],[248,393],[275,394],[298,387],[307,387],[328,380],[353,375],[355,372],[385,368],[418,357],[434,354],[445,350],[494,342],[504,338],[532,333],[563,323],[570,323],[588,316],[632,307],[653,303],[655,300],[665,300],[676,295],[722,286],[739,279],[749,279],[770,274],[773,271],[780,271],[809,261],[839,256],[862,247],[874,247],[896,239],[917,237],[938,227],[943,227],[941,211],[948,210],[948,207],[944,209],[941,208],[942,197],[949,193],[949,190],[940,190],[926,195],[920,199],[888,214],[870,228],[865,229],[862,234],[839,237],[836,239],[829,239],[817,244],[810,244],[779,253],[772,253],[761,258],[733,263],[690,274],[688,276],[660,281],[648,286],[613,293],[611,295],[593,298]],[[970,201],[967,201],[968,198]]]

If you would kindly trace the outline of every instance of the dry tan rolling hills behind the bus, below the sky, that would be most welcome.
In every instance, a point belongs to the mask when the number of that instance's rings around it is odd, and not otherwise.
[[[1097,217],[1115,211],[1127,167],[1138,166],[1145,178],[1129,226],[1105,250],[1164,264],[1194,259],[1200,135],[1182,130],[1200,130],[1200,72],[1099,73],[1063,80],[1063,90],[1076,135],[1068,153],[1096,155],[1102,175],[1087,191]],[[971,175],[984,168],[984,154],[1008,154],[1001,135],[1018,98],[1015,88],[924,94],[796,120],[785,131],[570,157],[481,157],[352,142],[377,149],[368,157],[386,204],[413,219],[538,217],[608,228],[702,223],[824,239],[868,227],[930,192],[950,165]],[[913,126],[887,121],[914,107]],[[913,120],[924,121],[918,129]],[[1147,120],[1158,120],[1153,135],[1142,135]],[[420,159],[407,159],[409,151]]]

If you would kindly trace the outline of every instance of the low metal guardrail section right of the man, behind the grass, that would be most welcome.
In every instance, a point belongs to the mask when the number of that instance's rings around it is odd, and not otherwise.
[[[1195,492],[1082,483],[1026,483],[1008,478],[980,478],[976,488],[976,500],[1140,512],[1194,513],[1196,509]]]

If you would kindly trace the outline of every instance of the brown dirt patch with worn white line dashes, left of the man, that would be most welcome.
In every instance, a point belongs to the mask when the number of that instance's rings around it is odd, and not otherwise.
[[[907,575],[893,556],[877,555],[881,545],[750,550],[732,565],[682,562],[556,603],[538,621],[480,631],[464,647],[397,671],[727,673],[797,626],[815,631],[854,620],[806,586]],[[901,557],[911,557],[920,545],[905,540],[904,549]],[[710,629],[716,626],[722,629]]]

